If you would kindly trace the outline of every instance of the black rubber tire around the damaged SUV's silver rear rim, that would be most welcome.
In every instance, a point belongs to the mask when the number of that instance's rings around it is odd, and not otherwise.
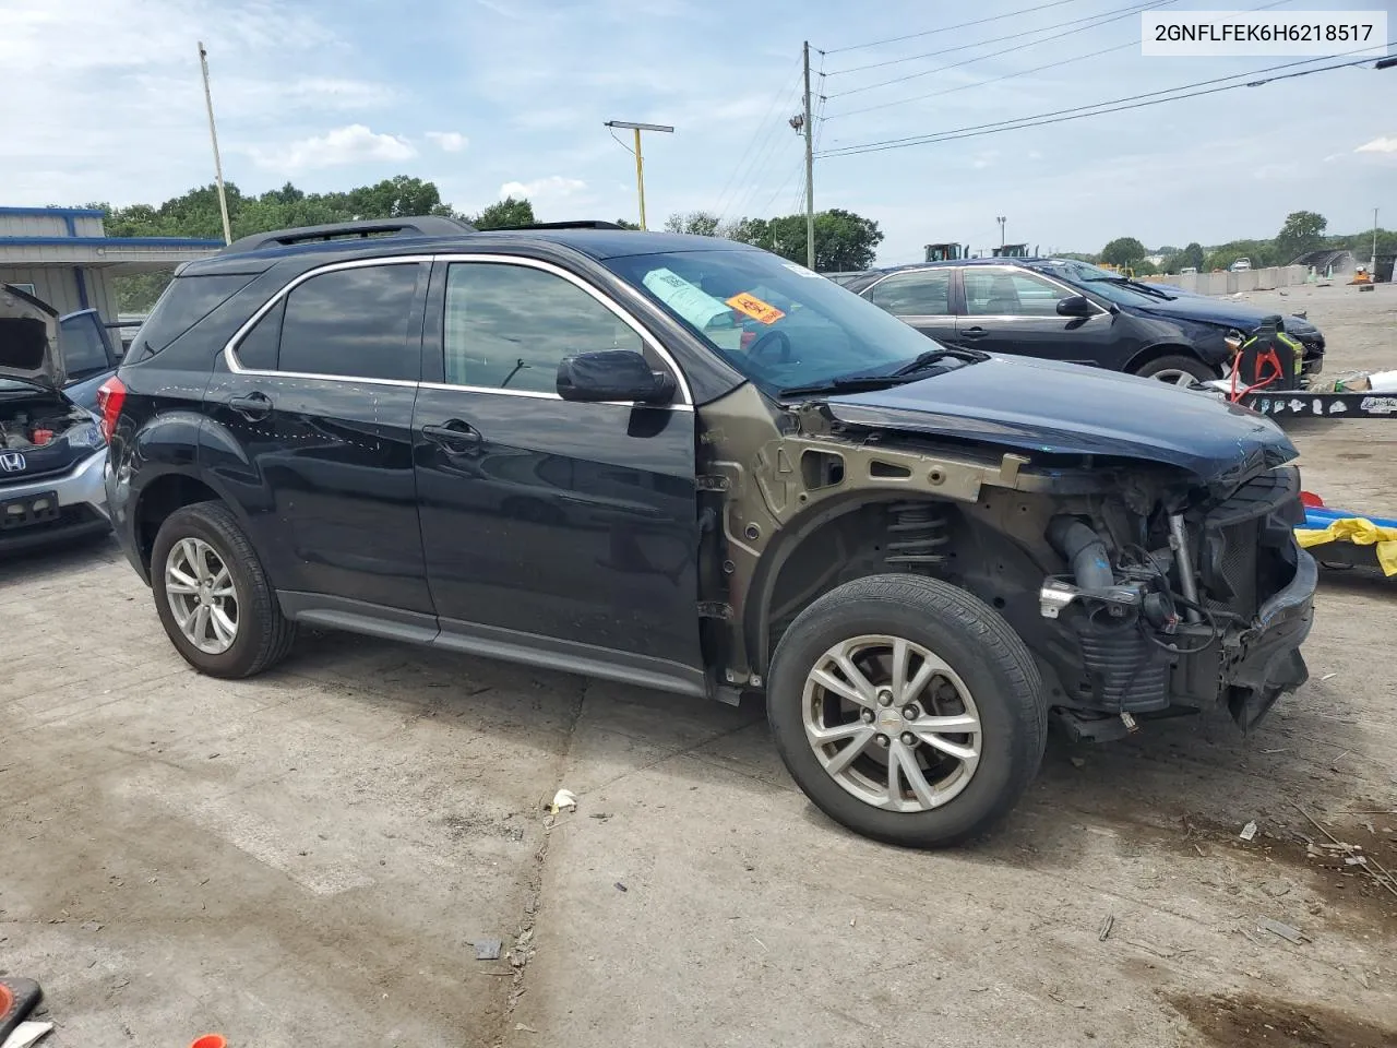
[[[189,556],[191,549],[198,551],[204,546],[211,555]],[[175,552],[176,548],[179,552]],[[219,583],[219,590],[210,590],[210,592],[229,590],[232,592],[231,608],[229,598],[214,598],[219,606],[232,611],[231,616],[225,611],[222,622],[231,618],[236,623],[232,641],[225,650],[201,650],[176,619],[175,602],[184,606],[197,605],[198,597],[176,592],[172,599],[169,587],[183,585],[177,578],[168,576],[172,555],[173,563],[183,566],[182,577],[193,574],[189,570],[191,560],[205,556],[208,565],[226,566],[228,581]],[[285,658],[296,639],[296,625],[281,613],[277,592],[251,542],[232,510],[219,502],[183,506],[161,524],[151,549],[151,590],[155,595],[155,612],[161,616],[161,625],[165,626],[170,643],[184,661],[201,674],[222,678],[253,676]],[[210,623],[205,633],[210,633],[211,647],[217,647],[221,639],[217,637],[215,625]]]

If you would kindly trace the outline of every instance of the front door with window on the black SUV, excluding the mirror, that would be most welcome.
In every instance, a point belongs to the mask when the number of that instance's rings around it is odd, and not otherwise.
[[[440,380],[423,381],[414,451],[443,643],[697,681],[693,408],[555,391],[570,354],[668,366],[638,326],[557,267],[476,256],[434,267],[425,347]]]

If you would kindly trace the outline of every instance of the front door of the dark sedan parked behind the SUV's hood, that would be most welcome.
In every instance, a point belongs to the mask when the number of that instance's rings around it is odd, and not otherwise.
[[[967,265],[961,286],[961,345],[1098,366],[1113,361],[1115,317],[1097,305],[1088,317],[1059,316],[1058,303],[1080,295],[1066,284],[1013,265]]]

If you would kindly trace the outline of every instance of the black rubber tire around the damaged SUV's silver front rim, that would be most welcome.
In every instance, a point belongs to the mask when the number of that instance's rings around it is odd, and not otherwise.
[[[922,795],[915,794],[912,778],[905,774],[902,763],[908,753],[918,766],[922,760],[954,760],[939,748],[926,743],[914,748],[900,742],[915,741],[918,735],[908,728],[928,721],[904,720],[901,727],[893,725],[884,735],[883,718],[888,715],[888,710],[875,704],[875,721],[872,725],[865,724],[865,728],[873,728],[877,734],[849,762],[849,771],[845,773],[845,781],[854,781],[854,788],[858,789],[865,788],[865,780],[876,781],[877,774],[883,774],[888,805],[904,806],[902,810],[890,810],[888,806],[877,806],[875,801],[856,795],[826,769],[830,749],[823,750],[826,757],[817,756],[816,743],[807,735],[807,718],[823,717],[810,711],[828,713],[831,703],[851,707],[837,713],[837,717],[863,720],[868,715],[868,706],[838,699],[821,685],[812,683],[812,675],[837,646],[873,639],[905,640],[909,650],[929,653],[950,671],[950,676],[943,678],[937,672],[932,678],[939,696],[947,694],[946,685],[951,685],[951,694],[958,696],[950,700],[949,708],[943,706],[942,697],[929,699],[932,693],[923,689],[922,697],[914,697],[900,707],[902,711],[916,703],[935,701],[937,708],[932,715],[956,714],[957,707],[964,710],[961,717],[978,715],[977,763],[964,778],[944,780],[949,785],[942,794],[943,799],[933,796],[933,802],[928,803]],[[915,678],[912,667],[926,664],[916,662],[916,658],[908,657],[904,676],[909,674]],[[957,681],[953,682],[951,676]],[[873,675],[868,679],[873,682]],[[844,683],[848,683],[847,678]],[[963,689],[968,690],[972,700],[961,696]],[[1048,735],[1042,681],[1018,634],[979,598],[947,583],[909,574],[858,578],[826,594],[796,616],[781,637],[771,664],[767,720],[787,769],[820,810],[858,834],[909,848],[958,844],[995,826],[1038,773]],[[834,731],[863,731],[852,721],[841,725]],[[887,748],[882,746],[880,735],[890,738]],[[970,749],[977,736],[942,731],[939,738],[942,743]],[[956,742],[957,739],[961,742]],[[844,749],[856,749],[856,742],[858,738],[851,739]],[[838,749],[837,755],[842,756],[844,749]],[[901,769],[894,778],[900,787],[895,794],[887,787],[887,767],[894,755]],[[837,760],[831,759],[828,763],[833,766]],[[964,760],[960,764],[961,771],[968,767]],[[930,764],[921,769],[923,785],[929,784],[929,773],[937,767],[939,764]],[[873,769],[873,773],[865,774],[861,769]],[[904,785],[905,789],[901,788]]]

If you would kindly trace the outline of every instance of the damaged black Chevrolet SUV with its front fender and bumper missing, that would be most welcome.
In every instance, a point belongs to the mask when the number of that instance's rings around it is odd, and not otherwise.
[[[911,845],[1105,739],[1305,681],[1295,449],[1211,397],[929,344],[728,240],[409,218],[186,265],[102,391],[175,647],[298,623],[736,701]]]

